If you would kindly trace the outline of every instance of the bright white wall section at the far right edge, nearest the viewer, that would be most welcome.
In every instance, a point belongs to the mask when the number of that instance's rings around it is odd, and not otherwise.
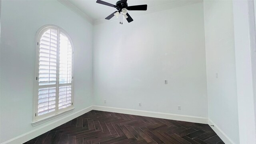
[[[253,89],[256,88],[254,3],[246,0],[233,1],[233,12],[240,144],[256,144]]]

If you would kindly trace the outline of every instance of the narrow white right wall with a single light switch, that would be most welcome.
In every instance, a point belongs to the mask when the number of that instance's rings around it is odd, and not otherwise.
[[[239,143],[232,1],[204,1],[204,24],[208,117],[230,142]]]

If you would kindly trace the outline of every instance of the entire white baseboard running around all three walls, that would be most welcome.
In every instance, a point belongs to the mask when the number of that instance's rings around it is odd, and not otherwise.
[[[170,120],[181,120],[186,122],[197,122],[202,124],[214,125],[214,126],[211,126],[211,128],[216,132],[216,134],[218,134],[218,136],[220,136],[220,138],[223,140],[223,142],[225,142],[225,144],[235,144],[216,124],[214,124],[214,122],[212,122],[212,120],[210,119],[208,120],[208,118],[205,118],[205,117],[187,116],[187,115],[181,115],[181,114],[169,114],[169,113],[163,113],[163,112],[150,112],[145,110],[132,110],[132,109],[126,109],[126,108],[113,108],[113,107],[106,107],[106,106],[89,106],[78,112],[69,114],[61,119],[55,120],[49,124],[36,128],[30,132],[17,136],[16,138],[12,138],[11,140],[8,140],[1,144],[22,144],[32,138],[35,138],[36,136],[39,136],[40,134],[43,134],[51,130],[52,128],[56,128],[57,126],[60,126],[61,124],[64,124],[65,122],[68,122],[91,110],[102,110],[106,112],[117,112],[122,114],[133,114],[138,116],[148,116],[148,117],[154,117],[154,118],[164,118],[164,119],[170,119]]]

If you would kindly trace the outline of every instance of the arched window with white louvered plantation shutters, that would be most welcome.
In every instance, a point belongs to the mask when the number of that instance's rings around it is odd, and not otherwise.
[[[37,35],[35,119],[73,108],[73,46],[58,26],[45,26]]]

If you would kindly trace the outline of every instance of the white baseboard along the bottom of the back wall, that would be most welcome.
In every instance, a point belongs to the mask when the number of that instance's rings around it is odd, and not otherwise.
[[[163,112],[150,112],[145,110],[132,110],[126,108],[113,108],[113,107],[106,107],[106,106],[93,106],[94,110],[102,110],[107,112],[117,112],[122,114],[133,114],[138,116],[148,116],[154,118],[164,118],[170,120],[181,120],[186,122],[197,122],[202,124],[208,124],[208,118],[199,117],[199,116],[187,116],[181,114],[169,114]]]

